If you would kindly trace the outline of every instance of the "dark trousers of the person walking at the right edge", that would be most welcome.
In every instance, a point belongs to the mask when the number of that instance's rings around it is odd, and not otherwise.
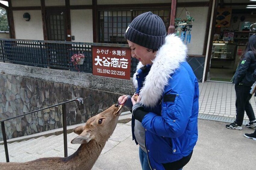
[[[235,85],[235,107],[236,107],[236,119],[235,122],[238,126],[243,124],[245,112],[250,121],[255,120],[254,112],[252,110],[249,100],[251,87],[246,85]]]

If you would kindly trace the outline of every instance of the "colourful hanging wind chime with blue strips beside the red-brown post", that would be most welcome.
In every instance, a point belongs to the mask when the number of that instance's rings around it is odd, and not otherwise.
[[[187,19],[179,18],[184,9],[186,10]],[[192,23],[194,18],[190,16],[186,8],[183,8],[181,13],[178,18],[175,18],[175,32],[176,35],[180,36],[181,40],[187,44],[190,43],[191,40]]]

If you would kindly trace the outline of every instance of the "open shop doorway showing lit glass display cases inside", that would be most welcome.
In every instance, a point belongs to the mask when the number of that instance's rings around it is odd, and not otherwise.
[[[248,38],[255,33],[256,2],[243,2],[218,6],[207,81],[231,82]],[[255,8],[246,8],[252,4]]]

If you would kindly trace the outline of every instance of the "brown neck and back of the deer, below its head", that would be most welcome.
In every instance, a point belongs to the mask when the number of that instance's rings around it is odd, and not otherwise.
[[[106,141],[96,143],[90,141],[88,144],[81,144],[78,150],[66,158],[51,157],[51,158],[40,158],[30,162],[17,163],[1,163],[0,167],[5,170],[89,170],[93,167],[94,163],[101,154]],[[1,169],[0,168],[0,169]]]

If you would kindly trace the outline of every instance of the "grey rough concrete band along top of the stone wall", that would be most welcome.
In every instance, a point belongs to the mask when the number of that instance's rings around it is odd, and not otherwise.
[[[0,62],[0,73],[13,76],[40,79],[47,82],[58,82],[95,90],[109,91],[118,94],[133,95],[135,88],[131,80],[94,76],[66,70],[54,70],[40,67],[24,66]]]

